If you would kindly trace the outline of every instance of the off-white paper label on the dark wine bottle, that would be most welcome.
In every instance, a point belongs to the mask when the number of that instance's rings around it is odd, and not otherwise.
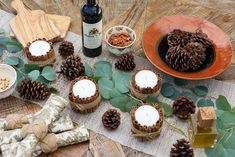
[[[95,49],[101,46],[102,20],[94,24],[83,22],[83,44],[88,49]]]

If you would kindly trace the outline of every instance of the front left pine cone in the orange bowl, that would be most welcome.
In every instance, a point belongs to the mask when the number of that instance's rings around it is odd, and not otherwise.
[[[165,56],[167,64],[177,71],[188,71],[190,69],[190,53],[180,46],[170,47]]]

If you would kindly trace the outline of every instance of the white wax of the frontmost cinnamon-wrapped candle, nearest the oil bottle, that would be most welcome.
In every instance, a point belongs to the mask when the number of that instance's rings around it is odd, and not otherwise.
[[[140,106],[135,111],[135,120],[142,126],[153,126],[159,120],[159,112],[150,105]]]

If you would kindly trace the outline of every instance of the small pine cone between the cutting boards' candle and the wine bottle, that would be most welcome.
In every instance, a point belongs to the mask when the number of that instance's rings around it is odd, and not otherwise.
[[[63,58],[67,58],[68,56],[74,54],[73,43],[71,43],[69,41],[63,41],[60,44],[59,53]]]

